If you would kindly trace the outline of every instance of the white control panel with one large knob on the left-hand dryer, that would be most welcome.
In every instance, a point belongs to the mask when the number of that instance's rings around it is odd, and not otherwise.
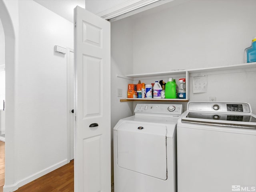
[[[179,117],[182,114],[182,104],[137,104],[135,115]]]

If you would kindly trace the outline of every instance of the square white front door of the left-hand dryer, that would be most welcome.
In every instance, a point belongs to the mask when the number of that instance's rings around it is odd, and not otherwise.
[[[117,164],[166,180],[166,126],[124,122],[117,128]]]

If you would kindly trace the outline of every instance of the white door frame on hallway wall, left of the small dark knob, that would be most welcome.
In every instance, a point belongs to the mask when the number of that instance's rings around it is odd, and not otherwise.
[[[70,52],[74,53],[74,49],[67,47],[67,163],[70,162],[70,113],[72,110],[70,108]]]

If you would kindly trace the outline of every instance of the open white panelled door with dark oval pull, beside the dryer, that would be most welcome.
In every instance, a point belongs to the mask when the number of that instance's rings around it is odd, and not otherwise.
[[[74,11],[75,192],[110,192],[110,22]]]

